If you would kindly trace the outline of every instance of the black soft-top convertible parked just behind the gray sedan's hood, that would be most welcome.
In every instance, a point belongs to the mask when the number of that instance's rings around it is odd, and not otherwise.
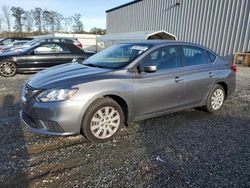
[[[72,43],[43,42],[18,51],[0,54],[0,74],[5,77],[16,73],[37,72],[47,67],[83,61],[93,55]]]

